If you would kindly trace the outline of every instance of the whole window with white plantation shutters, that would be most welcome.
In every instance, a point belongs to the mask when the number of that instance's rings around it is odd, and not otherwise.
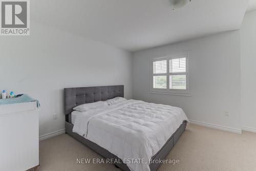
[[[187,53],[155,58],[152,65],[152,93],[189,94]]]

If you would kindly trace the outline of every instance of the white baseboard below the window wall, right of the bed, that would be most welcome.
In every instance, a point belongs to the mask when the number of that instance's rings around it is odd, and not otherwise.
[[[228,132],[232,132],[232,133],[242,134],[242,130],[241,129],[235,129],[235,128],[227,127],[227,126],[221,126],[221,125],[216,125],[216,124],[211,124],[211,123],[199,122],[199,121],[196,121],[196,120],[189,120],[189,121],[190,121],[190,123],[194,123],[194,124],[197,124],[197,125],[210,127],[212,129],[217,129],[217,130],[222,130],[222,131],[228,131]]]

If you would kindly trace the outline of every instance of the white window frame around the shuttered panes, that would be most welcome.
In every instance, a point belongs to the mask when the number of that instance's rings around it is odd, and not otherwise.
[[[152,58],[150,61],[150,93],[153,94],[168,94],[168,95],[177,95],[177,96],[190,96],[189,92],[189,52],[178,53],[175,55],[162,55],[164,57],[155,57]],[[177,72],[177,73],[169,73],[169,60],[171,59],[178,59],[178,58],[186,58],[186,72]],[[167,60],[167,71],[166,73],[162,74],[154,74],[153,72],[153,62],[160,61],[160,60]],[[169,77],[171,75],[186,75],[186,90],[181,89],[170,89],[169,88]],[[166,89],[154,89],[153,88],[153,76],[166,76]]]

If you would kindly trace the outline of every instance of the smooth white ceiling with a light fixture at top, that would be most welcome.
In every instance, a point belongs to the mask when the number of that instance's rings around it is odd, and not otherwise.
[[[174,11],[169,0],[44,0],[31,1],[31,18],[138,51],[239,29],[247,3],[247,0],[193,0]]]

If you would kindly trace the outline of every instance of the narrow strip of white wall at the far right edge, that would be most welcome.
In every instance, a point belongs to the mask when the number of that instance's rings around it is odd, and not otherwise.
[[[241,54],[242,126],[244,130],[256,132],[256,11],[244,17]]]

